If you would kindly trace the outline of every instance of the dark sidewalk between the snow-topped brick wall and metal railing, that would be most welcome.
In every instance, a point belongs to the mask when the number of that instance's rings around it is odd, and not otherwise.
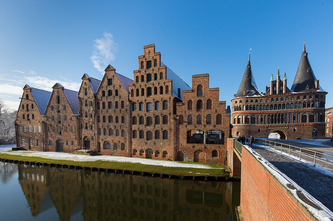
[[[313,167],[313,163],[293,159],[265,146],[253,145],[252,149],[333,211],[332,171]]]

